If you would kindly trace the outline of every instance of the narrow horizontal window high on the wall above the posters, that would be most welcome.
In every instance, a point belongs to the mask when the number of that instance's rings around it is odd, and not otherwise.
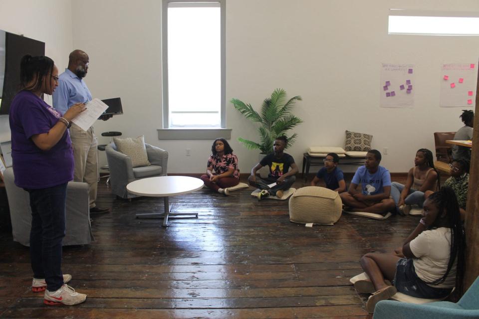
[[[477,15],[477,16],[476,16]],[[435,12],[392,9],[389,34],[479,35],[479,12]]]

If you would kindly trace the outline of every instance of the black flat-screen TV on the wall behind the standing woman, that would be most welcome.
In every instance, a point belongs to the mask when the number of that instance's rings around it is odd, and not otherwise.
[[[45,55],[45,43],[0,30],[0,115],[8,114],[20,84],[20,60],[25,54]]]

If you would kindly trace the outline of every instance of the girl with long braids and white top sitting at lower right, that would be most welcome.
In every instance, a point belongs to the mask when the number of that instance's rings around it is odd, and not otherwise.
[[[445,298],[454,288],[461,294],[465,246],[456,195],[444,186],[426,199],[423,218],[396,255],[368,253],[361,258],[370,280],[354,286],[360,293],[373,293],[366,304],[370,313],[396,292],[427,299]]]

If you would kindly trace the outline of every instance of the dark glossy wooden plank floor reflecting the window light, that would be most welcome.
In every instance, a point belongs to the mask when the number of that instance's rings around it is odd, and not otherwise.
[[[135,218],[163,211],[161,198],[116,199],[101,183],[98,206],[112,212],[92,217],[95,242],[63,250],[70,285],[88,295],[74,307],[43,305],[30,291],[28,248],[1,233],[0,318],[369,318],[349,278],[363,254],[392,251],[419,217],[343,215],[308,228],[289,222],[288,201],[251,191],[171,197],[172,211],[199,217],[163,228]]]

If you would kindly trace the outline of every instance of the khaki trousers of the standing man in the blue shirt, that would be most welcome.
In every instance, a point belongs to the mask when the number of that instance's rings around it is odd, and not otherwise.
[[[88,183],[90,208],[93,208],[96,205],[98,188],[98,142],[93,133],[93,127],[85,132],[73,123],[70,127],[70,138],[75,160],[73,180]]]

